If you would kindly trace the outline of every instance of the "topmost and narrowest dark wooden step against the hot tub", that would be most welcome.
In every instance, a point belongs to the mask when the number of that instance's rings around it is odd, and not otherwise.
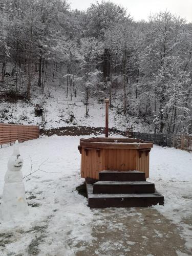
[[[100,181],[145,181],[145,173],[138,170],[120,172],[118,170],[102,170],[99,172]]]

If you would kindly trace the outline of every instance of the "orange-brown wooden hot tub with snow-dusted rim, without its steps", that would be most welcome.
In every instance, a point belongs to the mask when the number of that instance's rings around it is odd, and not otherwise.
[[[139,170],[149,177],[151,141],[127,138],[80,139],[81,177],[98,180],[101,170]]]

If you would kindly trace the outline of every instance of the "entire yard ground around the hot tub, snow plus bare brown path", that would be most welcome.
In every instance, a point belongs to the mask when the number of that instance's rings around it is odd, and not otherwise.
[[[20,144],[24,175],[30,157],[32,170],[44,163],[24,179],[30,215],[0,224],[0,255],[191,255],[191,153],[152,149],[148,181],[164,195],[164,206],[91,210],[75,190],[83,183],[79,139],[52,136]],[[12,150],[0,149],[0,196]]]

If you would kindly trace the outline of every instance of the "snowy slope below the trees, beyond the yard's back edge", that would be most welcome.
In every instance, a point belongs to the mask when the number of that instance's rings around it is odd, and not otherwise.
[[[45,129],[85,125],[93,127],[103,127],[105,125],[105,105],[99,104],[97,99],[90,98],[89,116],[86,116],[86,105],[83,104],[84,95],[81,97],[66,97],[65,88],[57,87],[55,84],[42,94],[38,87],[32,93],[31,100],[17,100],[14,102],[7,101],[2,97],[0,105],[0,122],[16,123],[16,124],[34,124],[40,125],[41,117],[36,117],[34,113],[35,104],[43,105],[45,108]],[[50,97],[49,93],[51,91]],[[1,95],[0,95],[1,97]],[[127,122],[122,113],[122,101],[118,95],[114,99],[114,108],[109,111],[109,127],[124,131],[126,127],[133,126],[135,131],[152,132],[152,127],[147,123],[143,124],[143,120],[129,116]]]

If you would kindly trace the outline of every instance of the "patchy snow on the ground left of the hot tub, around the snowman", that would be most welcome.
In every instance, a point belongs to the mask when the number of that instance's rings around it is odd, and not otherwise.
[[[32,240],[32,231],[34,227],[49,225],[47,238],[43,250],[50,252],[47,243],[52,241],[51,251],[55,249],[63,251],[63,255],[68,254],[68,248],[60,241],[72,241],[74,245],[80,239],[89,241],[92,239],[89,224],[92,221],[93,214],[87,207],[87,200],[80,196],[74,189],[82,183],[80,178],[80,154],[77,150],[79,137],[57,137],[39,138],[20,144],[20,153],[24,158],[23,174],[30,173],[31,160],[32,170],[36,170],[39,164],[48,159],[41,165],[41,169],[49,172],[36,172],[33,176],[28,176],[25,181],[27,199],[29,205],[39,205],[37,207],[29,206],[29,217],[21,223],[4,223],[0,225],[1,231],[14,229],[24,229],[23,240],[25,237],[25,249]],[[0,187],[3,187],[3,177],[7,166],[7,156],[12,152],[12,147],[4,147],[1,150],[1,180]],[[30,157],[29,157],[30,156]],[[2,191],[0,191],[2,194]],[[34,198],[33,198],[34,197]],[[32,199],[30,199],[32,198]],[[27,233],[25,233],[27,232]],[[25,236],[24,236],[25,235]],[[21,236],[21,234],[19,234]],[[60,241],[60,242],[59,242]],[[14,251],[23,252],[20,243],[10,243],[7,245],[4,253]],[[43,245],[42,245],[43,246]],[[64,248],[63,248],[64,247]],[[65,253],[66,250],[66,253]],[[25,252],[25,251],[24,251]]]

